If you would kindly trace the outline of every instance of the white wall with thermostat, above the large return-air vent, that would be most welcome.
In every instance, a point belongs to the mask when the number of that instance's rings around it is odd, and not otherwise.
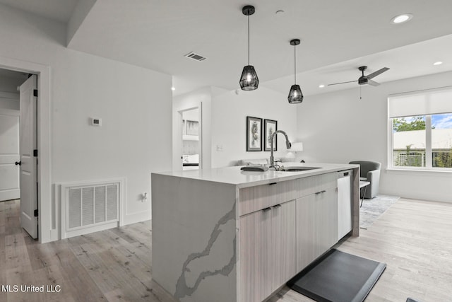
[[[64,25],[3,5],[0,40],[1,57],[50,69],[48,185],[126,178],[124,223],[150,219],[150,199],[140,194],[150,196],[152,171],[171,168],[171,76],[68,50]],[[90,127],[89,117],[102,127]]]

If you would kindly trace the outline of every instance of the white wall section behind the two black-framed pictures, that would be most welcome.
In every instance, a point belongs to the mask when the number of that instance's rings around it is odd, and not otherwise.
[[[260,86],[255,91],[228,91],[212,100],[212,167],[235,165],[240,159],[270,158],[270,151],[246,151],[246,117],[277,120],[278,130],[297,141],[297,107],[287,95]],[[222,151],[217,151],[217,145]],[[285,138],[278,134],[275,157],[287,154]]]

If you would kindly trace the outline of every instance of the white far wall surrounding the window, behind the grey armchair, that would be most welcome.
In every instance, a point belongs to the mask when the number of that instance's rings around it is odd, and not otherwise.
[[[452,202],[452,173],[386,170],[388,167],[387,97],[394,93],[452,85],[452,72],[305,96],[298,107],[302,157],[309,162],[382,163],[380,193]]]

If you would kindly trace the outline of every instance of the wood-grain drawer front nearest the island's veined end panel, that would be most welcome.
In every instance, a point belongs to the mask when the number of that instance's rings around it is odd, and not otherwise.
[[[297,180],[287,180],[240,189],[239,215],[242,216],[295,199],[297,196],[296,182]]]

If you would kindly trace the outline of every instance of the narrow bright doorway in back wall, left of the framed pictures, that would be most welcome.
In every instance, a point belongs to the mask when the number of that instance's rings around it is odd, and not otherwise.
[[[182,170],[202,168],[201,108],[179,111],[181,121]]]

